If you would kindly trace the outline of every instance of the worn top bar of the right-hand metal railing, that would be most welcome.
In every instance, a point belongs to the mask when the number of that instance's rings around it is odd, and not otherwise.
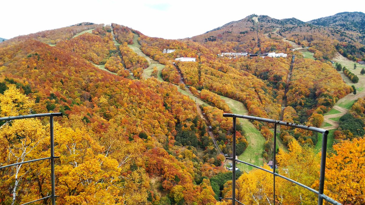
[[[237,114],[231,114],[231,113],[223,113],[223,117],[238,117],[238,118],[243,118],[243,119],[248,119],[248,120],[257,120],[257,121],[262,121],[262,122],[267,122],[267,123],[280,124],[280,125],[285,125],[285,126],[289,126],[289,127],[295,127],[295,128],[300,128],[300,129],[306,129],[306,130],[309,130],[309,131],[314,131],[314,132],[319,132],[319,133],[327,133],[328,134],[328,130],[326,130],[326,129],[311,127],[311,126],[306,126],[306,125],[301,125],[301,124],[295,124],[295,123],[287,123],[287,122],[284,122],[284,121],[266,119],[266,118],[262,118],[262,117],[253,117],[253,116],[248,116],[248,115],[237,115]]]

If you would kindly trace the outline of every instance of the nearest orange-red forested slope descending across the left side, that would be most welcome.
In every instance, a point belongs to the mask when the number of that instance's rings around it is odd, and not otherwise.
[[[61,29],[60,32],[63,30]],[[84,36],[89,35],[91,34],[84,34]],[[95,34],[92,35],[94,35],[92,38],[98,37]],[[89,38],[85,39],[84,36],[80,35],[76,38],[87,40],[90,43],[94,42]],[[101,42],[95,41],[92,44],[99,43]],[[104,43],[107,45],[107,41]],[[186,187],[183,195],[183,197],[186,196],[185,201],[192,203],[201,198],[196,195],[200,193],[197,189],[203,191],[206,188],[205,184],[210,183],[207,181],[203,183],[204,185],[202,184],[203,187],[196,186],[194,178],[202,181],[202,176],[209,176],[211,172],[223,170],[223,167],[214,165],[221,163],[219,160],[221,158],[211,157],[216,156],[214,149],[205,153],[199,148],[209,146],[209,139],[204,129],[205,124],[197,117],[195,103],[187,96],[178,93],[172,85],[159,83],[153,79],[137,81],[115,76],[97,69],[84,59],[88,58],[88,55],[83,58],[72,47],[51,47],[33,40],[32,37],[24,42],[15,40],[9,44],[3,44],[3,46],[0,49],[3,93],[1,102],[6,103],[5,98],[11,98],[12,94],[16,96],[27,94],[26,98],[30,103],[26,108],[17,111],[16,107],[19,106],[17,103],[23,104],[25,98],[22,98],[23,101],[12,99],[15,104],[10,105],[10,110],[5,109],[4,104],[0,105],[1,116],[44,112],[64,113],[64,120],[60,120],[60,124],[55,125],[56,144],[66,146],[56,146],[55,148],[62,155],[61,167],[57,173],[67,173],[66,178],[58,179],[57,192],[60,197],[57,201],[59,203],[104,201],[105,198],[92,197],[90,199],[86,193],[89,192],[89,189],[94,189],[95,194],[101,194],[101,192],[105,192],[106,187],[113,190],[116,187],[124,186],[125,188],[118,188],[118,192],[102,194],[108,198],[106,202],[135,204],[138,201],[140,204],[145,204],[148,196],[158,197],[158,201],[161,197],[162,200],[166,200],[165,192],[179,184],[180,187]],[[91,50],[87,52],[100,56],[102,53],[95,52],[98,47],[91,47]],[[39,120],[30,121],[30,123],[38,122]],[[2,127],[2,131],[8,131],[13,127],[8,127],[6,124]],[[39,127],[39,129],[43,130],[46,127]],[[68,135],[69,140],[74,142],[62,141],[64,135]],[[174,139],[176,135],[188,137],[188,140],[178,141]],[[83,136],[83,138],[76,136]],[[40,137],[44,138],[46,135],[35,137],[41,139]],[[1,143],[5,143],[3,141],[5,139],[1,140]],[[177,146],[170,150],[169,147],[174,147],[175,142],[183,144],[184,147],[178,148]],[[46,146],[47,141],[42,141],[41,144]],[[187,149],[185,147],[187,144],[192,146]],[[4,150],[1,153],[13,151],[16,156],[19,154],[12,150],[12,147],[2,147]],[[85,149],[89,151],[82,152]],[[170,154],[181,155],[181,159],[170,156],[166,150],[170,150]],[[25,159],[42,155],[47,151],[49,150],[34,151],[32,152],[34,155],[25,155]],[[207,163],[196,160],[198,158],[203,160],[203,156]],[[185,157],[189,160],[183,162]],[[15,159],[1,161],[1,165],[12,163],[12,160]],[[70,160],[72,164],[68,165]],[[195,165],[192,160],[196,162]],[[107,166],[102,166],[106,163]],[[187,164],[184,165],[184,163]],[[96,167],[91,168],[88,167],[89,165]],[[201,170],[207,171],[207,173],[197,174],[197,167],[202,167]],[[103,174],[103,180],[93,182],[99,176],[97,173],[84,177],[80,175],[82,170],[94,168],[99,170],[99,174]],[[39,171],[37,167],[27,169],[32,169],[31,173],[34,173],[34,178],[31,178],[32,182],[47,178],[45,175],[35,174]],[[4,178],[2,178],[1,185],[11,183],[12,171],[10,169],[2,173]],[[111,180],[113,178],[114,180]],[[123,178],[128,178],[128,180]],[[150,178],[155,178],[155,188],[150,188]],[[22,178],[19,181],[22,187],[32,184],[28,184]],[[8,191],[13,196],[18,193],[15,200],[22,202],[28,201],[30,198],[38,198],[39,193],[48,192],[49,187],[45,186],[41,183],[35,189],[19,188],[15,189],[14,193]],[[74,191],[69,192],[69,189]],[[191,190],[189,193],[188,189]],[[137,190],[139,194],[137,194]],[[2,189],[0,198],[2,201],[12,202],[8,191]],[[207,194],[204,195],[207,196]],[[191,198],[193,196],[194,198]],[[209,201],[215,201],[214,193],[211,193]],[[198,203],[200,204],[200,202]]]

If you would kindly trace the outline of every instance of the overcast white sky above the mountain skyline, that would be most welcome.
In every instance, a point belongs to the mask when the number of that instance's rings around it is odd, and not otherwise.
[[[0,2],[0,37],[9,39],[93,22],[122,24],[148,36],[177,39],[203,34],[253,13],[309,21],[345,11],[365,12],[365,1],[3,0]]]

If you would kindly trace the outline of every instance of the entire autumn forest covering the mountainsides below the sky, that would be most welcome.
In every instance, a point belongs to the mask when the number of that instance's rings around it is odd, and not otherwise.
[[[328,129],[324,194],[365,204],[364,30],[250,15],[185,39],[89,22],[18,36],[0,43],[0,117],[62,113],[57,204],[232,204],[233,134],[238,159],[272,170],[276,151],[277,173],[318,190],[321,136],[282,126],[274,147],[272,124],[241,119],[234,133],[223,113]],[[49,133],[47,118],[1,121],[0,167],[48,157]],[[273,196],[272,174],[237,166],[243,204],[317,204],[282,178]],[[49,196],[50,181],[49,160],[0,169],[0,202]]]

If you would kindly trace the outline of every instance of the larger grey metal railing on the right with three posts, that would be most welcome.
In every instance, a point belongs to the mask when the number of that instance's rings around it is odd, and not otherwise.
[[[341,205],[341,203],[339,203],[338,201],[333,200],[332,198],[326,196],[325,194],[323,194],[323,189],[324,189],[324,171],[326,170],[326,153],[327,153],[327,135],[328,135],[328,130],[325,129],[321,129],[321,128],[316,128],[316,127],[310,127],[310,126],[305,126],[305,125],[300,125],[300,124],[295,124],[295,123],[286,123],[284,121],[279,121],[279,120],[272,120],[272,119],[266,119],[266,118],[262,118],[262,117],[253,117],[253,116],[247,116],[247,115],[236,115],[236,114],[231,114],[231,113],[224,113],[223,117],[233,117],[233,148],[232,148],[232,152],[233,152],[233,157],[232,158],[227,158],[227,159],[231,159],[233,160],[233,170],[232,170],[232,198],[226,198],[228,200],[232,200],[232,205],[235,205],[235,202],[238,202],[239,204],[242,204],[242,202],[238,201],[236,199],[236,162],[241,162],[244,163],[246,165],[255,167],[257,169],[261,169],[263,171],[266,171],[270,174],[273,175],[274,177],[274,181],[273,181],[273,192],[274,192],[274,197],[273,197],[273,204],[275,205],[275,177],[281,177],[289,182],[295,183],[296,185],[299,185],[301,187],[304,187],[308,190],[310,190],[311,192],[315,193],[318,195],[318,205],[322,205],[323,204],[323,200],[326,200],[328,202],[330,202],[331,204],[335,204],[335,205]],[[273,171],[264,169],[262,167],[256,166],[256,165],[252,165],[250,163],[247,162],[243,162],[241,160],[235,159],[236,156],[236,118],[243,118],[243,119],[248,119],[248,120],[257,120],[257,121],[262,121],[262,122],[266,122],[266,123],[273,123],[274,124],[274,160],[273,160]],[[295,127],[295,128],[300,128],[300,129],[306,129],[309,131],[313,131],[313,132],[318,132],[318,133],[322,133],[322,154],[321,154],[321,162],[320,162],[320,176],[319,176],[319,190],[315,190],[312,189],[311,187],[308,187],[306,185],[303,185],[297,181],[294,181],[293,179],[284,177],[283,175],[277,174],[276,173],[276,126],[277,125],[284,125],[284,126],[289,126],[289,127]]]

